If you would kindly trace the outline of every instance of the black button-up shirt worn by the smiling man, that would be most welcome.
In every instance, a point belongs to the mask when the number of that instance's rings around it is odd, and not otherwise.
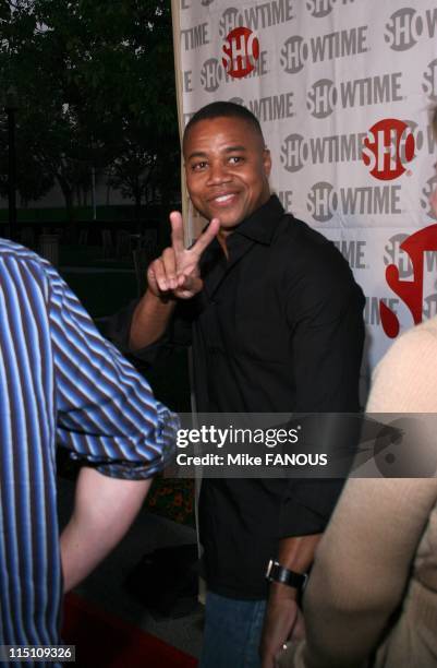
[[[286,214],[275,195],[227,246],[229,260],[216,240],[206,249],[203,293],[179,305],[168,333],[142,357],[187,343],[191,321],[199,411],[359,410],[364,297],[341,253]],[[199,528],[209,588],[265,597],[279,539],[323,532],[341,487],[341,480],[205,479]]]

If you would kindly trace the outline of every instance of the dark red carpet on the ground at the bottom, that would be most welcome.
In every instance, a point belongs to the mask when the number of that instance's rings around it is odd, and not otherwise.
[[[195,668],[197,659],[89,604],[65,596],[62,640],[77,668]]]

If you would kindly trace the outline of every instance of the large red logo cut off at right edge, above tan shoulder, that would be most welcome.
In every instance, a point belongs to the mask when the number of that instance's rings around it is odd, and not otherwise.
[[[400,250],[406,253],[413,269],[413,281],[402,279],[400,269],[396,264],[389,264],[386,269],[386,281],[393,293],[402,299],[410,310],[414,324],[423,319],[424,303],[424,266],[425,258],[437,251],[437,225],[429,225],[420,229],[400,243]],[[432,308],[433,298],[428,298],[426,308]],[[397,314],[383,301],[379,301],[379,312],[383,329],[387,336],[394,338],[400,331]]]

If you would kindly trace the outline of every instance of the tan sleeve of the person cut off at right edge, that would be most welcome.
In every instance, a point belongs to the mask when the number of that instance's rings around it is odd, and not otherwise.
[[[437,411],[437,339],[420,327],[379,365],[368,413]],[[434,479],[350,479],[316,553],[306,641],[281,667],[360,668],[401,603],[437,499]]]

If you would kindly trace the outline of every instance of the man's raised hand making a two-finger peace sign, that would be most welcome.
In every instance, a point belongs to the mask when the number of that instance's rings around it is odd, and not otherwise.
[[[199,272],[199,260],[207,246],[220,229],[218,218],[213,218],[206,230],[190,249],[183,242],[182,216],[178,211],[170,214],[171,247],[151,262],[147,270],[149,290],[156,297],[173,296],[178,299],[191,299],[203,288]]]

